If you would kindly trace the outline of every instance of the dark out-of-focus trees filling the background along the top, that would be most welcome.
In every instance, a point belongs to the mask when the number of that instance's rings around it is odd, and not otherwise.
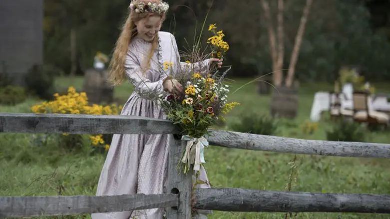
[[[271,72],[268,36],[258,0],[167,0],[170,12],[163,30],[175,34],[179,48],[192,45],[195,27],[218,23],[231,50],[225,64],[234,77]],[[304,0],[285,6],[285,68]],[[91,67],[96,51],[112,52],[129,2],[125,0],[45,0],[45,63],[70,72],[70,32],[76,31],[78,74]],[[276,4],[275,2],[272,4]],[[250,5],[250,6],[248,6]],[[208,12],[208,9],[210,8]],[[271,5],[276,14],[276,5]],[[301,81],[332,81],[341,65],[359,65],[367,80],[390,79],[390,3],[379,0],[315,1],[301,47]],[[207,14],[208,13],[208,14]],[[198,32],[199,33],[199,32]],[[92,37],[93,36],[93,37]]]

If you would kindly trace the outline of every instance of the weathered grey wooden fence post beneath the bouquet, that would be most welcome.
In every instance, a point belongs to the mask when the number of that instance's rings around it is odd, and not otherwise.
[[[193,170],[183,174],[177,168],[180,158],[185,150],[185,141],[177,135],[170,137],[170,149],[168,156],[168,182],[166,192],[179,194],[179,206],[166,208],[167,219],[191,219],[191,194]]]

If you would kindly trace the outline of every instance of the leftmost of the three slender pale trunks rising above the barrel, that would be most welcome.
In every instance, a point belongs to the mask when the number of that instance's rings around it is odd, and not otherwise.
[[[275,86],[280,86],[283,79],[283,73],[281,72],[281,69],[279,68],[277,62],[278,62],[278,53],[277,53],[277,41],[276,41],[276,34],[274,27],[272,25],[272,18],[271,18],[271,9],[268,0],[262,0],[261,1],[263,10],[264,10],[264,16],[266,18],[267,23],[267,31],[268,31],[268,37],[270,40],[270,53],[271,53],[271,59],[272,59],[272,78]]]

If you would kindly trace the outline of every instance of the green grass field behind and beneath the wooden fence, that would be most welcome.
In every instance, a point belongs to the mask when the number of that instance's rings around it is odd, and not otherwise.
[[[247,82],[232,82],[234,87]],[[70,85],[81,89],[82,79],[58,78],[57,88]],[[389,92],[386,84],[375,84],[378,92]],[[279,127],[279,136],[326,140],[329,122],[320,121],[312,135],[304,134],[301,124],[309,120],[314,92],[330,90],[327,84],[303,84],[299,96],[299,115],[290,125]],[[131,87],[122,85],[115,97],[123,104]],[[242,105],[227,117],[228,124],[247,111],[268,113],[270,99],[259,96],[250,84],[230,96],[230,101]],[[0,112],[29,112],[36,103],[28,100],[14,107],[0,106]],[[371,142],[389,143],[385,132],[369,133]],[[70,153],[59,148],[55,136],[42,134],[0,134],[0,196],[37,195],[94,195],[104,155],[90,155],[88,151]],[[257,190],[286,190],[293,154],[254,152],[209,147],[205,153],[206,169],[215,188],[247,188]],[[293,191],[327,193],[390,194],[390,160],[340,158],[299,155],[297,182]],[[61,217],[64,218],[64,217]],[[74,216],[65,218],[89,218]],[[214,212],[211,219],[282,219],[284,214]],[[299,219],[390,219],[390,215],[300,213]]]

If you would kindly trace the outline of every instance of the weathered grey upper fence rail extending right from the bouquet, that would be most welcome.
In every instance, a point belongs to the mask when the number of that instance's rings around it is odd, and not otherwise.
[[[302,140],[231,131],[211,131],[210,145],[256,151],[340,157],[390,158],[390,144]],[[206,152],[207,153],[207,152]]]

